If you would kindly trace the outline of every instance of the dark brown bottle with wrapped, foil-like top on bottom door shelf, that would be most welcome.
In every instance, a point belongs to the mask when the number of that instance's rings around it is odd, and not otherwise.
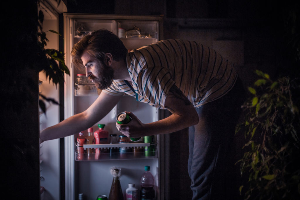
[[[122,200],[123,192],[120,184],[119,177],[121,175],[120,168],[112,168],[110,173],[113,175],[113,183],[110,188],[110,195],[108,197],[109,200]]]

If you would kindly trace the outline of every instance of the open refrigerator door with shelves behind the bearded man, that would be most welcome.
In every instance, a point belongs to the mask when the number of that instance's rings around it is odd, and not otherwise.
[[[130,51],[139,47],[157,42],[162,39],[162,16],[121,16],[101,14],[74,14],[64,13],[64,53],[65,62],[70,69],[70,76],[65,76],[64,84],[64,118],[68,118],[87,109],[101,93],[92,84],[80,85],[77,81],[79,74],[85,74],[85,69],[78,69],[73,66],[70,52],[72,46],[84,35],[90,34],[98,29],[107,29],[118,35],[125,47]],[[134,97],[124,95],[119,103],[98,123],[93,125],[93,132],[98,130],[98,124],[105,124],[104,130],[109,134],[121,134],[116,128],[116,116],[120,112],[133,112],[143,123],[158,121],[162,114],[161,110],[137,102]],[[83,130],[87,136],[87,130]],[[83,194],[86,200],[95,200],[98,195],[109,196],[113,176],[110,173],[112,167],[121,168],[120,183],[125,197],[125,190],[129,183],[134,183],[140,189],[140,178],[144,173],[144,166],[150,166],[150,172],[155,178],[156,199],[164,199],[161,190],[164,160],[162,159],[163,136],[153,133],[154,143],[134,142],[129,144],[107,144],[107,145],[84,145],[85,151],[93,148],[92,154],[78,155],[79,145],[75,135],[64,139],[64,173],[65,173],[65,199],[78,199]],[[110,140],[110,136],[108,141]],[[145,147],[154,147],[151,154],[145,154]],[[109,153],[96,155],[95,149],[109,150],[110,148],[134,148],[142,149],[142,152],[135,154],[115,153],[112,157]]]

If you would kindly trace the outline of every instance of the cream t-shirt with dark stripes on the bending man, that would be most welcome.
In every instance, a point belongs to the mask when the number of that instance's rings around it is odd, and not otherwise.
[[[173,84],[197,108],[225,95],[237,79],[232,63],[192,41],[161,40],[129,52],[126,59],[137,100],[160,109]],[[136,97],[123,80],[113,80],[103,92]]]

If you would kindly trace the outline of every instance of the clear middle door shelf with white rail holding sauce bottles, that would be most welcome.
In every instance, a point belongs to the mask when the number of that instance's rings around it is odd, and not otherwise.
[[[145,151],[145,147],[152,146],[154,151]],[[80,149],[81,148],[81,149]],[[92,148],[93,152],[88,154],[87,149]],[[126,148],[131,152],[121,153],[119,149]],[[75,160],[76,161],[93,161],[93,160],[132,160],[132,159],[153,159],[157,158],[156,144],[150,143],[128,143],[128,144],[98,144],[78,146],[75,143]],[[95,153],[96,149],[106,150],[107,153]],[[110,150],[119,152],[110,152]],[[79,153],[81,152],[81,153]],[[83,153],[84,152],[84,153]]]

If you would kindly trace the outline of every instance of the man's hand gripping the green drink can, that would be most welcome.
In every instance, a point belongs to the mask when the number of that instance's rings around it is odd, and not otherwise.
[[[131,121],[127,124],[118,124],[117,129],[125,136],[131,138],[138,138],[145,135],[144,124],[132,112],[125,111],[131,117]]]

